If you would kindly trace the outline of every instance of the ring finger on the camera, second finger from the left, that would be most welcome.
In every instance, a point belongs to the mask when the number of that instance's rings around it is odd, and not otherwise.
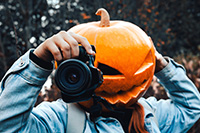
[[[53,37],[55,44],[60,49],[64,60],[71,58],[70,45],[58,34]]]

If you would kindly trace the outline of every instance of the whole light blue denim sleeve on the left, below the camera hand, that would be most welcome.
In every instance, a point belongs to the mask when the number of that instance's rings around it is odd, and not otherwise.
[[[61,112],[66,112],[66,107],[62,102],[47,102],[33,109],[52,70],[36,65],[29,59],[29,54],[30,51],[19,58],[1,81],[0,132],[54,132],[55,126],[64,128],[66,113]]]

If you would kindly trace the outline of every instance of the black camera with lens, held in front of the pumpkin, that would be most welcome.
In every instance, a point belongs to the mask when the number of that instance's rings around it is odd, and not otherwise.
[[[93,45],[92,49],[95,51]],[[67,103],[89,100],[103,83],[103,73],[94,67],[95,57],[79,46],[79,57],[61,62],[56,70],[55,83]]]

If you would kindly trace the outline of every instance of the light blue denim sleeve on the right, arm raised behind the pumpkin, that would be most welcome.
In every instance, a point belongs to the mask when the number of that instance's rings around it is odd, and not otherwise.
[[[187,132],[200,117],[200,94],[183,66],[172,59],[155,76],[169,94],[168,100],[151,97],[161,132]]]

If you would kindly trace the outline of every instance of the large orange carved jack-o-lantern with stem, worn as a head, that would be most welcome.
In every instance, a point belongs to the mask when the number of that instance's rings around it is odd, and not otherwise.
[[[96,12],[101,21],[72,27],[96,47],[95,66],[103,71],[104,82],[96,95],[111,104],[132,104],[149,87],[155,69],[154,46],[138,26],[125,21],[110,21],[103,8]]]

